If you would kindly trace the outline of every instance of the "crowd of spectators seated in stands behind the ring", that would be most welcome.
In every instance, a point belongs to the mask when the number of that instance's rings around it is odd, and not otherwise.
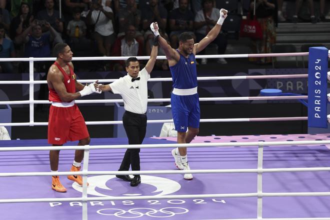
[[[74,56],[149,55],[153,38],[151,22],[157,21],[160,34],[176,48],[178,35],[183,31],[194,33],[196,41],[207,34],[219,17],[217,5],[220,1],[223,0],[62,0],[60,13],[59,0],[0,0],[0,57],[49,57],[52,46],[61,41],[70,45]],[[250,0],[240,1],[242,10],[236,8],[229,13],[251,12]],[[297,10],[301,1],[296,0]],[[311,11],[312,2],[308,0]],[[323,11],[319,17],[311,12],[311,22],[324,18],[324,0],[320,3]],[[256,4],[257,17],[266,18],[262,25],[268,28],[270,35],[265,42],[268,48],[274,41],[271,34],[275,34],[277,19],[285,20],[281,12],[282,0],[256,0]],[[259,5],[273,6],[264,9]],[[298,22],[297,15],[291,20]],[[225,33],[221,32],[214,43],[217,54],[224,54]],[[256,52],[270,52],[255,46]],[[159,49],[158,55],[164,52]],[[223,58],[216,61],[226,63]],[[201,64],[206,62],[206,59],[200,60]],[[35,70],[40,72],[48,67],[49,62],[35,64]],[[123,70],[124,63],[111,61],[104,68]],[[0,72],[26,69],[27,62],[0,62]],[[155,69],[168,69],[167,61],[157,60]]]

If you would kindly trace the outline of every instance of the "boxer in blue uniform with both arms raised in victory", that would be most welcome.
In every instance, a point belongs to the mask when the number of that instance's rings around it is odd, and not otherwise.
[[[197,93],[197,72],[195,54],[203,50],[219,34],[227,10],[220,9],[220,17],[214,27],[198,43],[193,36],[183,32],[179,36],[179,47],[173,49],[159,36],[159,45],[164,50],[173,80],[171,94],[172,115],[177,130],[177,143],[189,143],[199,132],[199,99]],[[159,35],[157,22],[150,24],[155,36]],[[188,128],[188,132],[186,132]],[[174,148],[172,155],[179,169],[190,169],[186,147]],[[185,179],[192,179],[191,173],[184,174]]]

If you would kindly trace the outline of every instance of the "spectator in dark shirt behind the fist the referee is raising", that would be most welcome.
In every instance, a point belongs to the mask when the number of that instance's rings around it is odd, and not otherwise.
[[[149,0],[148,4],[142,8],[142,29],[146,40],[153,38],[153,33],[149,30],[152,22],[157,22],[159,29],[166,29],[167,11],[158,3],[158,0]]]

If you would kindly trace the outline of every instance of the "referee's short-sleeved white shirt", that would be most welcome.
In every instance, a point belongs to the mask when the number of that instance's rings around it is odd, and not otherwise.
[[[125,110],[144,114],[148,103],[148,88],[146,84],[150,75],[143,68],[136,77],[140,77],[140,80],[132,82],[132,77],[127,73],[127,75],[118,78],[109,85],[113,93],[121,95]]]

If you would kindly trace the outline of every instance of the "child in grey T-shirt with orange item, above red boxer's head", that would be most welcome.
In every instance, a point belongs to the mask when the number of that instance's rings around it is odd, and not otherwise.
[[[85,37],[86,29],[85,22],[80,19],[80,9],[76,7],[73,12],[73,20],[70,20],[66,27],[66,34],[69,36],[69,44],[72,50],[90,43]]]

